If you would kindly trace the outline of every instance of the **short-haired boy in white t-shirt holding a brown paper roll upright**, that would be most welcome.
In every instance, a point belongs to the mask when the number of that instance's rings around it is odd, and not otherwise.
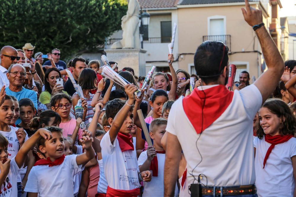
[[[165,150],[161,145],[161,139],[165,134],[167,121],[164,118],[154,119],[149,126],[149,134],[153,139],[153,148],[148,146],[146,151],[143,151],[138,159],[140,172],[152,170],[152,180],[149,183],[144,182],[143,197],[147,196],[163,196],[164,183],[163,172],[165,165]],[[175,197],[178,196],[178,186],[176,182]]]

